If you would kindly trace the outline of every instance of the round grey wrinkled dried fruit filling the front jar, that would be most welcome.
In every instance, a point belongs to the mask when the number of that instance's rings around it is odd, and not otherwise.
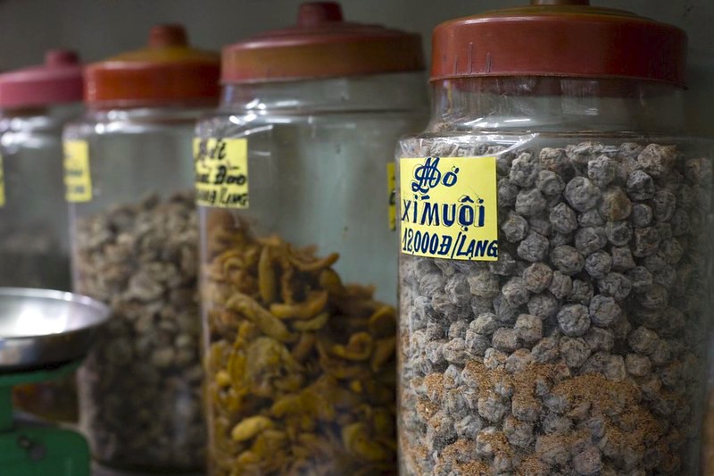
[[[706,332],[709,159],[675,146],[495,155],[499,259],[403,255],[406,474],[690,474]]]

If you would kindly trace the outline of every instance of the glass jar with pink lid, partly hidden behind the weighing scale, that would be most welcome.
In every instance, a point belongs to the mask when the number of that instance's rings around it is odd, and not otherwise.
[[[0,74],[0,287],[71,288],[69,215],[62,183],[62,125],[80,113],[81,66],[53,50],[39,66]],[[18,386],[16,408],[77,419],[74,376]]]

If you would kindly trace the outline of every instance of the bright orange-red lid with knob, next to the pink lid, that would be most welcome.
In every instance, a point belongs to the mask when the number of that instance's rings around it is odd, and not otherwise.
[[[186,29],[158,25],[145,49],[87,66],[85,98],[98,107],[217,104],[218,54],[188,46]]]

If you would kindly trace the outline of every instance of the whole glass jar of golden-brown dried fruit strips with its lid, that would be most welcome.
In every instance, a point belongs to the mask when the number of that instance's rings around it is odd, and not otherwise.
[[[388,171],[426,122],[419,37],[298,22],[224,49],[197,128],[211,474],[394,474]]]

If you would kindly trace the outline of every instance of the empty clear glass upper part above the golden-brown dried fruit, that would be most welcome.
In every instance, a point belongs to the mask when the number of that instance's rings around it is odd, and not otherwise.
[[[343,280],[369,276],[375,296],[394,305],[384,151],[426,121],[424,89],[415,73],[229,85],[198,135],[247,139],[251,203],[240,215],[259,235],[349,250],[335,266]]]

